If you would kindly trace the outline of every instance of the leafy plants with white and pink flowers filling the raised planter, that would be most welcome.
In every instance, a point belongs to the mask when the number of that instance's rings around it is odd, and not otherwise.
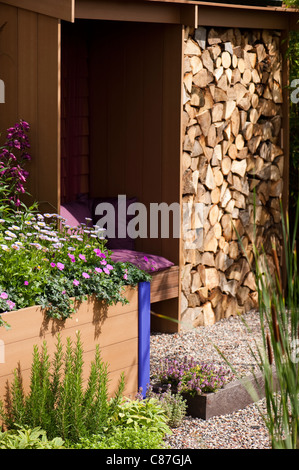
[[[16,212],[0,219],[0,314],[41,305],[65,319],[73,298],[94,295],[107,305],[125,303],[125,286],[150,276],[130,263],[114,263],[97,228],[70,229],[58,214]],[[51,279],[51,282],[49,282]]]

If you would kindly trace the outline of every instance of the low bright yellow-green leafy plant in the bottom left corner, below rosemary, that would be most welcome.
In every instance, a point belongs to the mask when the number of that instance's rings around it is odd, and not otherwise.
[[[64,449],[64,442],[60,437],[49,441],[46,432],[39,427],[17,428],[0,432],[0,449]]]

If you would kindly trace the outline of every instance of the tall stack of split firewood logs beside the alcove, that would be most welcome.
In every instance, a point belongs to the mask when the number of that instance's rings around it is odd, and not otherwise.
[[[253,243],[272,266],[281,242],[281,72],[279,32],[185,31],[183,327],[257,307]]]

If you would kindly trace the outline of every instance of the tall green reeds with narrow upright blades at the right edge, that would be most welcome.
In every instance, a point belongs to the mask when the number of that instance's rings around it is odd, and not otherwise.
[[[272,248],[275,264],[273,273],[267,264],[265,253],[263,250],[259,251],[254,244],[262,344],[255,341],[255,347],[249,345],[249,349],[263,377],[267,411],[264,413],[260,410],[260,413],[274,449],[299,448],[299,279],[296,253],[298,218],[299,199],[293,232],[290,231],[288,217],[284,220],[282,215],[287,281],[285,289],[276,246],[273,245]],[[246,321],[243,321],[246,325]],[[258,383],[254,372],[253,375]],[[252,398],[258,402],[258,388],[252,384],[244,385]]]

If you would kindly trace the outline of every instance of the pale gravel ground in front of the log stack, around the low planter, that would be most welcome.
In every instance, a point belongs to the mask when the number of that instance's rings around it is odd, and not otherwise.
[[[151,375],[155,374],[160,359],[166,357],[193,357],[202,362],[226,365],[217,352],[218,346],[239,374],[250,374],[256,369],[250,348],[255,349],[261,339],[259,315],[250,312],[230,317],[215,325],[199,327],[176,334],[151,336]],[[264,400],[258,402],[264,410]],[[270,449],[268,432],[256,404],[234,413],[215,416],[208,420],[186,416],[180,427],[167,438],[173,449]]]

